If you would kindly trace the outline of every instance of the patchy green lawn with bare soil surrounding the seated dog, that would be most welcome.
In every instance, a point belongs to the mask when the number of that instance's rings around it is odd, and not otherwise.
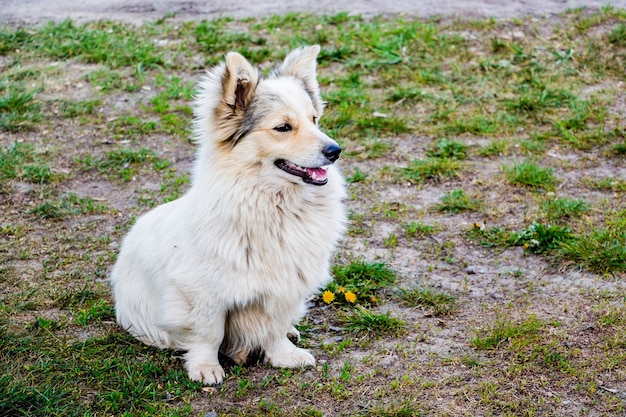
[[[107,274],[189,184],[203,71],[312,43],[351,219],[318,365],[202,387],[116,326]],[[626,11],[66,21],[1,28],[0,68],[0,415],[625,412]]]

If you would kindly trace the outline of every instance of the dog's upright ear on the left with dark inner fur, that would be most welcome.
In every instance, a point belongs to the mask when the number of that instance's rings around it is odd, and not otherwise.
[[[224,102],[235,112],[246,110],[254,97],[259,73],[239,53],[226,55],[226,69],[222,76]]]

